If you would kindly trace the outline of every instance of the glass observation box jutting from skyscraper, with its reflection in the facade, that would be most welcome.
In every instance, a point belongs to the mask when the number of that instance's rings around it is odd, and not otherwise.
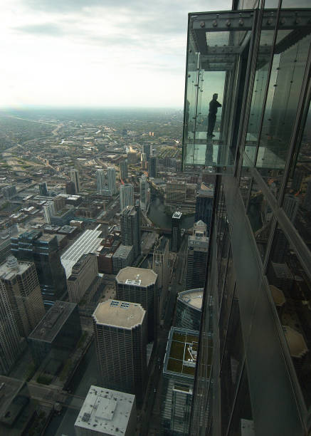
[[[241,145],[257,167],[285,167],[310,19],[310,9],[283,9],[279,17],[276,9],[189,14],[184,168],[231,173]],[[221,107],[214,113],[211,136],[214,93]],[[280,105],[287,121],[283,128],[275,116]]]

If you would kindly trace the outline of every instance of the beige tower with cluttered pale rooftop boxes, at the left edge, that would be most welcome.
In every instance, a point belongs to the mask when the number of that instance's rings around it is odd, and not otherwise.
[[[9,256],[0,266],[0,281],[9,297],[19,335],[27,337],[46,313],[36,267],[32,262],[19,262]]]

